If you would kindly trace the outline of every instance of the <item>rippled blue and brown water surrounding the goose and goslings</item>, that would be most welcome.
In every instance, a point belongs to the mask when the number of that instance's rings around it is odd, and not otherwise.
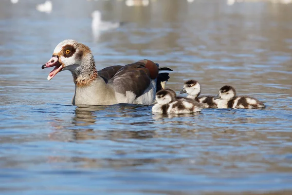
[[[0,2],[0,193],[292,194],[292,4],[266,1]],[[91,31],[91,12],[123,20]],[[94,36],[93,36],[94,34]],[[162,116],[151,106],[71,105],[69,71],[41,69],[63,39],[87,44],[97,68],[151,59],[202,94],[230,84],[263,110]]]

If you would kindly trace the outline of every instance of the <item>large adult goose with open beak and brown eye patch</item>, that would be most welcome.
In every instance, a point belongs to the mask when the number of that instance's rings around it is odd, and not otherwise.
[[[150,105],[156,92],[164,88],[169,78],[168,73],[159,71],[172,71],[166,67],[159,68],[158,64],[147,59],[97,71],[90,48],[72,39],[60,42],[42,69],[53,66],[55,68],[49,73],[48,80],[63,70],[72,73],[75,83],[73,105]]]

